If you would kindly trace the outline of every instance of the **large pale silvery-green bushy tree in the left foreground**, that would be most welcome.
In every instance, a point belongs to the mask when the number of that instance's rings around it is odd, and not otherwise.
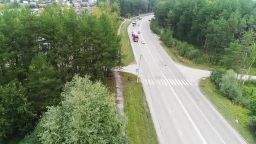
[[[103,84],[75,76],[61,96],[61,105],[48,107],[40,120],[38,136],[43,144],[126,143],[123,116]]]

